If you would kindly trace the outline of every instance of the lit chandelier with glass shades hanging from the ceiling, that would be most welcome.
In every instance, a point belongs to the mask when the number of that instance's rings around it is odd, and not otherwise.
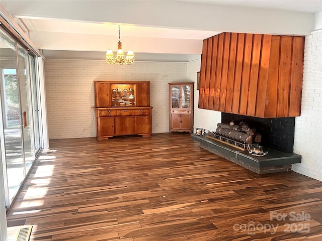
[[[116,58],[114,57],[113,51],[108,49],[106,51],[105,61],[108,64],[133,64],[135,56],[132,50],[127,52],[126,57],[124,58],[124,52],[122,50],[122,43],[120,38],[120,26],[119,26],[119,42],[117,43],[117,54]]]

